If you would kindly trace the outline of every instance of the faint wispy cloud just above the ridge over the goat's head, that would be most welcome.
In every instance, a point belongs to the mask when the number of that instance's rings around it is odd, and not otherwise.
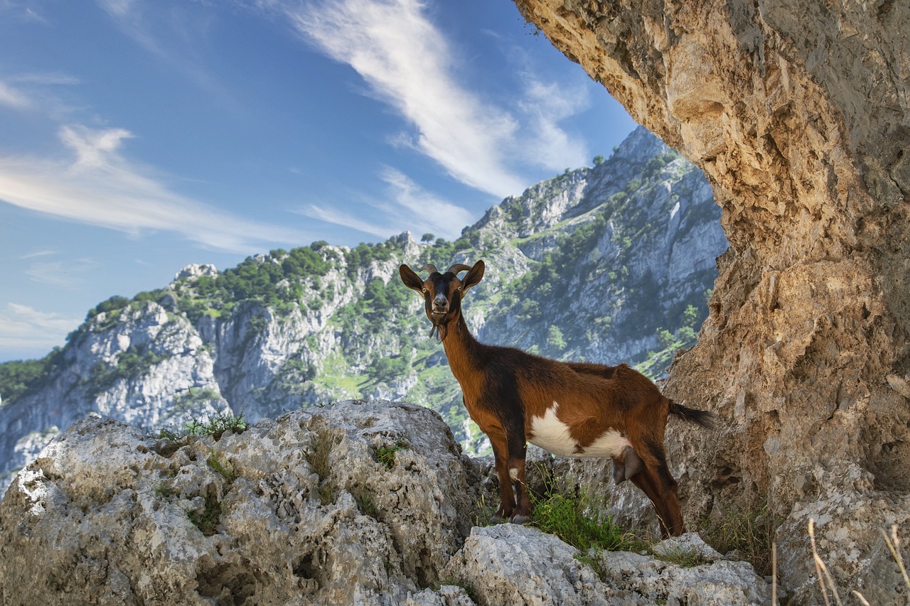
[[[399,170],[387,167],[380,177],[386,184],[386,197],[364,201],[367,206],[375,209],[380,220],[367,217],[363,212],[352,215],[318,204],[301,208],[298,212],[378,237],[389,237],[405,228],[418,236],[431,232],[443,237],[456,237],[460,234],[461,227],[469,225],[473,220],[467,209],[433,195]]]

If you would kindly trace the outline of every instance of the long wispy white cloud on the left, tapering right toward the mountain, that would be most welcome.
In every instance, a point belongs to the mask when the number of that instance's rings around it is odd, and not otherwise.
[[[205,247],[234,252],[305,241],[296,230],[236,217],[171,191],[120,153],[132,136],[122,128],[64,126],[59,135],[68,159],[0,157],[0,200],[135,235],[176,232]]]

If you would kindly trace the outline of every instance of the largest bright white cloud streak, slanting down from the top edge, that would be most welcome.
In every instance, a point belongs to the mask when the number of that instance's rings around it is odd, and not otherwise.
[[[371,94],[413,127],[405,138],[410,146],[470,187],[500,197],[520,192],[527,181],[513,168],[516,155],[534,157],[540,166],[541,157],[534,152],[551,149],[552,136],[563,150],[581,146],[561,133],[554,120],[540,115],[527,120],[521,108],[491,104],[462,84],[452,59],[458,53],[419,0],[267,4],[282,10],[321,52],[353,67]],[[536,132],[526,134],[525,128]],[[566,162],[561,157],[557,166]]]

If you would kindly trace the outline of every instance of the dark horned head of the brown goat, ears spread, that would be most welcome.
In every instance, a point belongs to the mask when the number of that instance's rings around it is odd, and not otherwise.
[[[433,332],[437,333],[440,341],[446,338],[448,327],[458,322],[461,314],[461,298],[469,288],[476,286],[483,278],[484,265],[483,261],[478,261],[473,268],[467,265],[456,263],[440,273],[436,266],[426,265],[420,271],[429,271],[430,277],[421,279],[414,270],[407,265],[399,268],[401,281],[404,285],[415,290],[423,297],[427,309],[427,318],[433,323]],[[467,271],[464,278],[458,275],[462,271]],[[430,332],[430,335],[433,334]]]

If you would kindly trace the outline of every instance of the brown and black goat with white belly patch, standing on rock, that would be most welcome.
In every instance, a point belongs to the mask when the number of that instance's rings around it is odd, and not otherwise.
[[[485,265],[457,263],[440,273],[427,265],[421,279],[407,265],[401,281],[423,297],[427,317],[442,341],[461,386],[465,408],[490,439],[500,480],[496,517],[531,520],[525,488],[527,442],[561,457],[610,457],[613,480],[632,480],[651,500],[664,538],[684,532],[677,483],[667,466],[664,429],[670,414],[703,427],[713,413],[665,398],[660,389],[625,364],[559,362],[521,349],[484,345],[461,314],[461,299],[483,278]],[[462,271],[468,273],[458,278]]]

